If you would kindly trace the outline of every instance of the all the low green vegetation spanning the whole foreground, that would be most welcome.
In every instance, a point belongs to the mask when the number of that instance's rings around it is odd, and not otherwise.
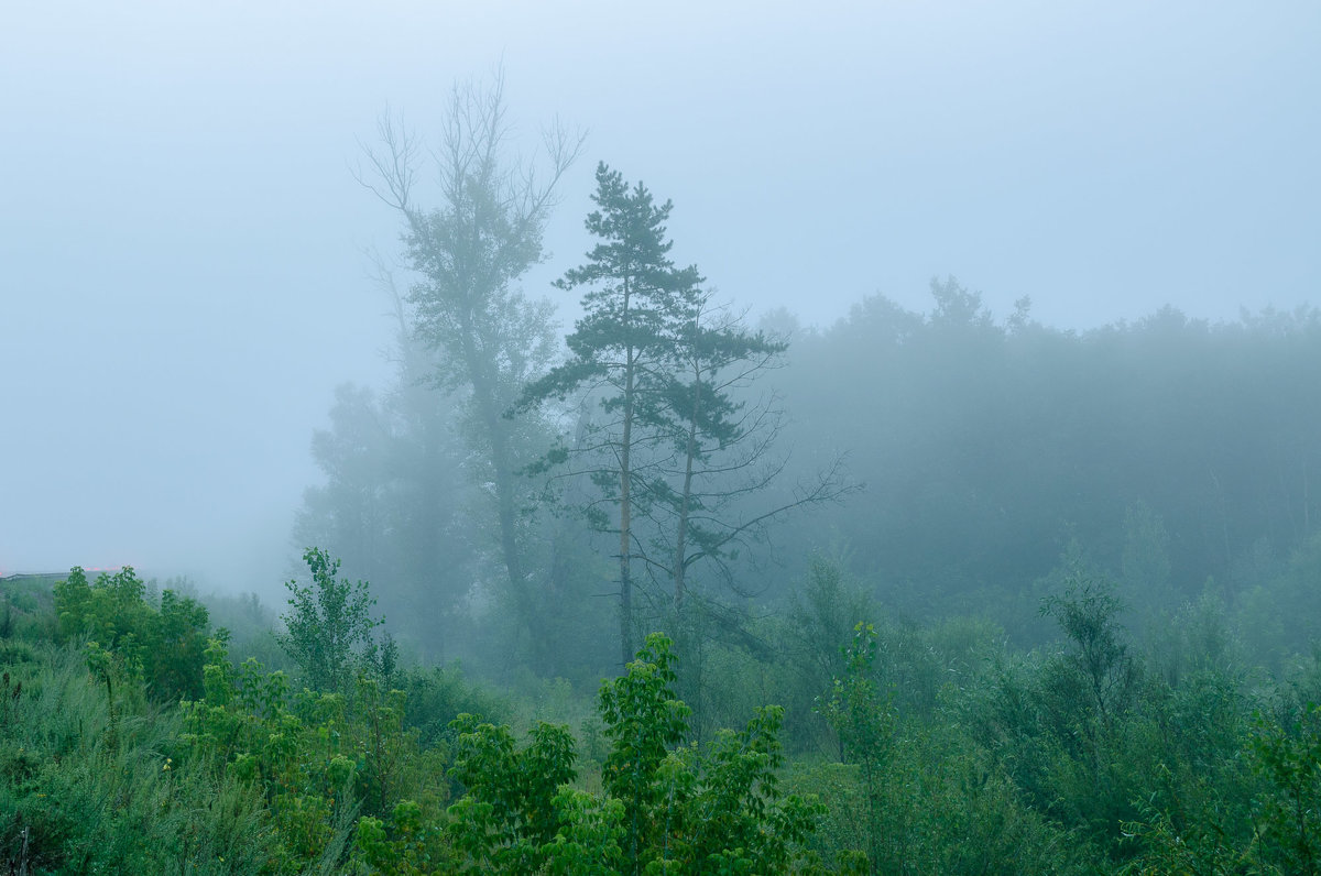
[[[1251,666],[1214,595],[1139,645],[1108,581],[1075,575],[1042,601],[1057,643],[1018,651],[987,622],[878,620],[819,560],[798,609],[765,621],[777,654],[708,643],[705,715],[658,633],[594,708],[559,691],[568,720],[551,723],[514,717],[556,711],[551,688],[497,695],[386,659],[367,585],[308,563],[288,673],[132,569],[4,593],[15,872],[1321,868],[1321,661]],[[301,665],[337,643],[334,666]],[[779,704],[729,729],[749,678]]]

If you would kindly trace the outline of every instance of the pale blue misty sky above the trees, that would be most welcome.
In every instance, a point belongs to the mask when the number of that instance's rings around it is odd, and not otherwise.
[[[807,5],[0,5],[0,573],[277,585],[334,386],[390,373],[358,140],[499,63],[526,145],[589,131],[534,293],[604,159],[808,322],[946,274],[1071,328],[1317,303],[1321,4]]]

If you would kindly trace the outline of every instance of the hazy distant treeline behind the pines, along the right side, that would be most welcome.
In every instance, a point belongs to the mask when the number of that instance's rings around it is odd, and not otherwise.
[[[876,296],[794,332],[774,381],[795,465],[841,451],[867,489],[787,529],[786,556],[832,547],[923,614],[1030,592],[1062,556],[1176,605],[1260,583],[1316,531],[1317,310],[1066,332],[931,292],[927,313]]]

